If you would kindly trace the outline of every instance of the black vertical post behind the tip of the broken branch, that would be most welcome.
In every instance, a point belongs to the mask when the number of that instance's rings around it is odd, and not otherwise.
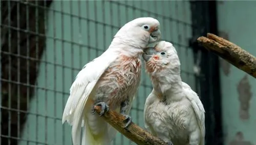
[[[218,35],[217,29],[217,2],[209,1],[207,6],[204,7],[206,11],[204,20],[206,21],[208,27],[206,32],[214,33]],[[212,128],[212,140],[217,140],[215,144],[223,144],[222,141],[222,106],[221,106],[221,93],[220,93],[220,67],[219,67],[219,57],[213,53],[207,51],[208,54],[208,65],[205,66],[208,69],[208,82],[209,82],[209,98],[211,98],[212,104],[210,109],[215,115],[210,116],[211,121],[215,121],[215,124],[211,124]]]

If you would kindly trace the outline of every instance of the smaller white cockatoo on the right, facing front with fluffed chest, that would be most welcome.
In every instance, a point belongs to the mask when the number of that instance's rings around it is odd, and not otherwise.
[[[204,107],[181,80],[173,44],[160,41],[144,49],[142,56],[154,88],[144,106],[145,128],[169,144],[204,145]]]

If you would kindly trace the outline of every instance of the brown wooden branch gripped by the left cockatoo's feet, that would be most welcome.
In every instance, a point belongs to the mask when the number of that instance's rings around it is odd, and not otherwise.
[[[98,114],[101,111],[101,107],[97,105],[94,106],[94,109]],[[153,136],[133,122],[126,129],[123,128],[125,125],[123,123],[125,118],[123,115],[117,113],[116,111],[110,109],[108,112],[105,112],[102,118],[124,136],[139,145],[167,145],[167,143],[162,139]]]

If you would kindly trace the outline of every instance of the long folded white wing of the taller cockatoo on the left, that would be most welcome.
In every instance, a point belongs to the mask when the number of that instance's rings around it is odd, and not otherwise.
[[[74,145],[80,144],[81,127],[85,124],[84,105],[87,103],[100,76],[115,61],[118,55],[106,50],[99,57],[86,64],[77,74],[70,88],[70,96],[62,115],[62,123],[72,125]]]

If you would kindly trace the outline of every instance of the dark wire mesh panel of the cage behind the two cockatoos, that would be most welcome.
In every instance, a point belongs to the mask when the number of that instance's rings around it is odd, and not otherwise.
[[[182,79],[195,90],[190,15],[188,1],[1,2],[1,140],[72,144],[71,127],[61,124],[61,116],[76,74],[108,48],[123,24],[137,17],[160,21],[162,40],[176,47]],[[151,91],[143,70],[131,110],[141,127]],[[118,133],[112,144],[135,143]]]

